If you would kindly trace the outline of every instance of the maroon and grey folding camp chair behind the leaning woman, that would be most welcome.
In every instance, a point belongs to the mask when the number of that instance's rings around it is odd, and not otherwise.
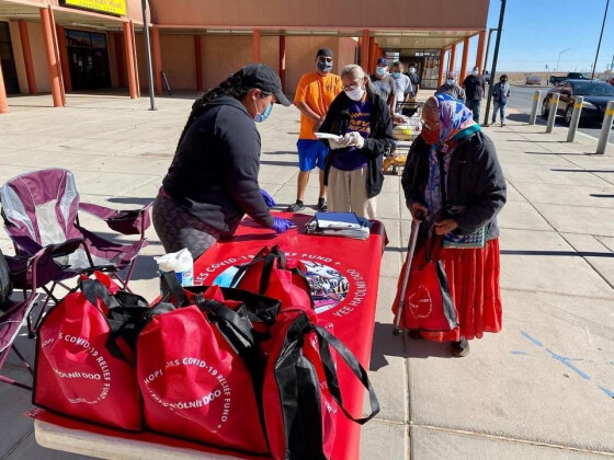
[[[118,211],[80,203],[72,173],[58,168],[8,181],[0,187],[0,202],[4,229],[15,249],[15,256],[7,257],[13,287],[23,289],[24,298],[26,290],[42,288],[47,299],[41,314],[49,300],[57,302],[56,286],[69,289],[62,281],[93,269],[107,272],[129,290],[136,256],[147,245],[145,230],[150,225],[151,204]],[[112,230],[139,238],[128,244],[101,238],[79,223],[79,210],[104,220]]]

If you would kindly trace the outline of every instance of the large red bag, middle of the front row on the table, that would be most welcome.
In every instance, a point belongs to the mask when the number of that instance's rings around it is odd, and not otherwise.
[[[223,448],[266,453],[260,403],[263,365],[245,298],[258,298],[275,313],[278,302],[249,292],[239,295],[240,301],[228,300],[220,294],[232,297],[237,290],[218,287],[181,292],[174,274],[164,277],[174,285],[167,296],[172,304],[154,307],[137,340],[146,425]]]

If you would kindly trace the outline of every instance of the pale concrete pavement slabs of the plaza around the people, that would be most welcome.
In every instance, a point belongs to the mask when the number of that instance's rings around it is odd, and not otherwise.
[[[151,199],[193,102],[124,95],[11,99],[0,116],[0,183],[34,169],[70,169],[83,200],[130,208]],[[526,107],[530,111],[530,107]],[[298,111],[276,105],[262,133],[261,185],[294,202]],[[509,120],[488,127],[508,179],[501,212],[503,331],[446,344],[391,334],[390,306],[409,237],[400,180],[378,202],[388,244],[382,265],[371,378],[380,414],[363,428],[362,459],[602,459],[614,457],[614,146]],[[307,204],[317,199],[312,175]],[[132,287],[157,291],[152,229]],[[11,253],[0,234],[0,248]],[[32,356],[33,343],[26,344]],[[25,377],[10,358],[4,368]],[[0,459],[79,458],[36,445],[23,390],[0,386]],[[121,458],[121,452],[117,452]]]

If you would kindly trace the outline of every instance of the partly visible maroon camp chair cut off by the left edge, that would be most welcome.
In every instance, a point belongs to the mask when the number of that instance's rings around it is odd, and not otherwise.
[[[32,294],[23,301],[11,301],[4,311],[0,311],[0,371],[2,371],[9,354],[13,350],[30,375],[34,377],[34,371],[30,364],[14,344],[22,326],[25,325],[26,320],[30,318],[30,311],[36,304],[37,295],[35,291],[32,291]],[[16,381],[5,375],[0,375],[0,382],[32,391],[32,386]]]

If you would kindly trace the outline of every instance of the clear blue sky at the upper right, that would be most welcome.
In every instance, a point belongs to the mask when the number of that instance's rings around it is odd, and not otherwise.
[[[606,0],[508,0],[499,48],[498,71],[590,71],[593,66]],[[490,0],[487,27],[499,25],[501,0]],[[497,32],[492,33],[487,69],[492,66]],[[487,35],[488,39],[488,35]],[[477,39],[471,39],[475,56]],[[614,55],[614,0],[610,0],[595,73]]]

